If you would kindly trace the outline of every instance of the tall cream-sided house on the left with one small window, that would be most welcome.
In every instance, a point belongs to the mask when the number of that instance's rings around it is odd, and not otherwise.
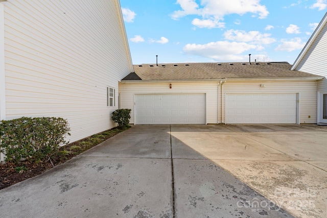
[[[0,1],[0,119],[63,117],[71,142],[108,130],[130,72],[119,0]]]

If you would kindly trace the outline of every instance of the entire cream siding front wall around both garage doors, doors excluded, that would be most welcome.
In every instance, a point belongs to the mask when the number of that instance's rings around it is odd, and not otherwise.
[[[222,86],[219,86],[219,82],[172,82],[172,89],[169,88],[169,84],[169,82],[120,83],[121,108],[132,109],[130,123],[134,123],[134,94],[150,93],[206,93],[206,117],[208,124],[225,123],[226,93],[298,93],[299,123],[316,123],[315,81],[226,81]],[[266,86],[260,87],[260,84],[265,84]],[[309,115],[311,116],[310,118]]]

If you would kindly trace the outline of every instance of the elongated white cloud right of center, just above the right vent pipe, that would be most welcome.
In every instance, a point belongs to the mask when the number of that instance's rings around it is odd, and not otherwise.
[[[276,41],[274,38],[270,37],[271,34],[262,34],[259,31],[245,32],[243,30],[228,30],[223,35],[225,36],[225,39],[238,42],[271,44]]]

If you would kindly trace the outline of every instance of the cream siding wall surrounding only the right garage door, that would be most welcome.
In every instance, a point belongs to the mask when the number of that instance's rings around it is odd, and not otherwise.
[[[260,87],[265,84],[265,87]],[[226,81],[223,85],[222,123],[225,123],[226,93],[299,93],[299,123],[316,123],[316,82],[315,81]],[[309,118],[311,116],[311,118]]]

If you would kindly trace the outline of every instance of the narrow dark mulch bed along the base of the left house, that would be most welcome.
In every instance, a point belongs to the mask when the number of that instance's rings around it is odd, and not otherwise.
[[[69,143],[66,146],[60,148],[61,151],[68,151],[64,158],[52,159],[54,166],[66,162],[69,159],[81,154],[82,152],[95,147],[97,144],[107,140],[108,138],[122,132],[124,130],[114,128],[107,130],[105,132],[92,135],[90,137],[84,138],[80,141]],[[39,163],[29,163],[21,162],[20,166],[24,166],[25,170],[15,169],[15,166],[11,163],[0,163],[0,189],[7,188],[18,182],[24,181],[26,179],[32,178],[34,176],[40,175],[48,169],[53,168],[50,161],[39,162]]]

